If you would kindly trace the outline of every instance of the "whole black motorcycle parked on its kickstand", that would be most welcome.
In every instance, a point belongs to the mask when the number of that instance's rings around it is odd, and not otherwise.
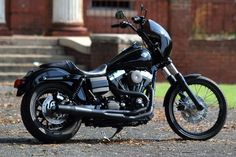
[[[123,127],[147,124],[153,117],[158,70],[171,84],[163,106],[176,134],[207,140],[222,129],[227,105],[221,90],[201,74],[183,76],[170,59],[169,34],[146,18],[143,7],[141,13],[130,22],[117,11],[116,18],[123,20],[112,27],[131,28],[143,46],[134,43],[93,71],[66,60],[43,64],[15,81],[17,96],[24,95],[21,116],[31,135],[45,143],[64,142],[82,123],[113,127],[116,133]]]

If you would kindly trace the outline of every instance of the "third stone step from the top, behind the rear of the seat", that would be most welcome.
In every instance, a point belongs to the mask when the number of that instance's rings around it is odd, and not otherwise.
[[[0,63],[31,63],[39,62],[39,63],[48,63],[59,60],[72,60],[74,61],[74,57],[72,56],[63,56],[63,55],[41,55],[41,54],[1,54],[0,55]]]

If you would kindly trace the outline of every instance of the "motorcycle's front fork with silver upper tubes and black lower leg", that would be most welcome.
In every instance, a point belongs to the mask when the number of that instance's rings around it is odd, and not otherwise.
[[[197,110],[203,110],[204,107],[201,104],[201,102],[198,101],[196,96],[193,94],[193,92],[190,90],[185,78],[183,75],[176,69],[175,65],[170,62],[166,66],[162,68],[162,73],[165,76],[165,78],[170,82],[171,85],[179,84],[182,91],[186,91],[188,96],[191,98],[193,103],[195,104]]]

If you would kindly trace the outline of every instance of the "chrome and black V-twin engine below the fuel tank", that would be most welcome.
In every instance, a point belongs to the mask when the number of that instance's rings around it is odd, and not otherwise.
[[[118,70],[108,76],[112,86],[122,91],[144,93],[146,87],[152,82],[152,74],[148,71],[133,70],[126,72]],[[106,108],[136,110],[147,104],[143,98],[135,95],[119,95],[115,91],[109,91],[103,95],[106,98]]]

